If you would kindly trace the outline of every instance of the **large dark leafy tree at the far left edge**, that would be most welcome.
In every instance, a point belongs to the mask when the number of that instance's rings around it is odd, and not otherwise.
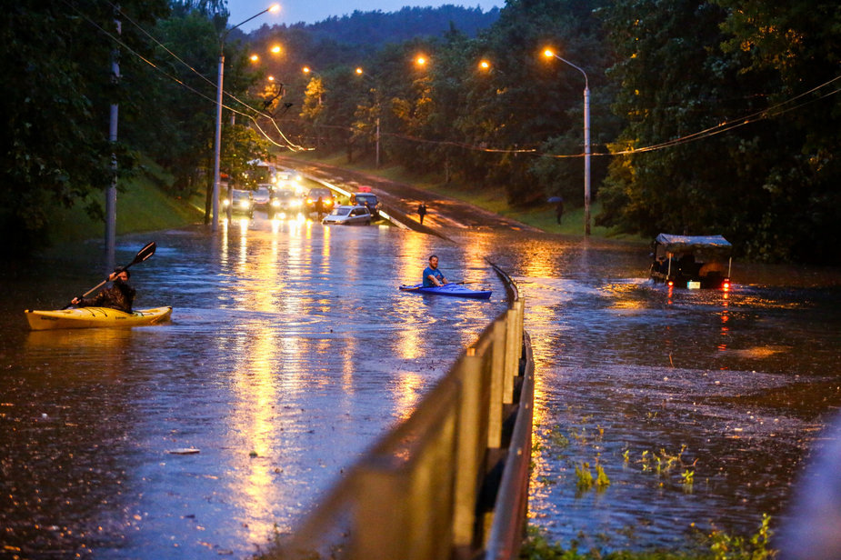
[[[121,2],[121,13],[149,25],[166,13],[164,0]],[[50,209],[85,205],[102,215],[99,193],[111,184],[111,158],[121,173],[134,158],[125,144],[108,141],[109,105],[127,105],[136,92],[112,80],[117,47],[110,5],[21,0],[6,6],[0,22],[0,231],[9,246],[26,251],[44,242]],[[147,52],[126,28],[121,40]],[[124,58],[122,69],[135,67]]]

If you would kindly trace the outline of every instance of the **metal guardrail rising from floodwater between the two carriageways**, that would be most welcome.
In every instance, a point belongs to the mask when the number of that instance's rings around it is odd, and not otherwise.
[[[534,364],[524,301],[488,325],[266,558],[516,558],[526,526]]]

